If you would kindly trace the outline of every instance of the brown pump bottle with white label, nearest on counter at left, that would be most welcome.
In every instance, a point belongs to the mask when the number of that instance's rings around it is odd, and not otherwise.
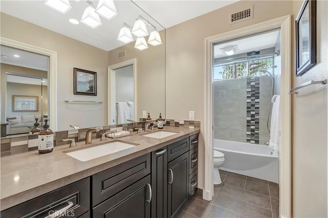
[[[49,129],[48,122],[49,120],[45,120],[45,125],[43,129],[39,132],[39,154],[49,153],[53,150],[53,132]]]

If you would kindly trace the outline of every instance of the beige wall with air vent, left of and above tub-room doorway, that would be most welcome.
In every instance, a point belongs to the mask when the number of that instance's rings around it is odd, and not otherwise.
[[[254,5],[254,18],[229,25],[229,13]],[[198,187],[204,186],[205,38],[291,14],[292,1],[240,1],[166,30],[166,117],[201,122]],[[212,158],[209,157],[208,158]]]

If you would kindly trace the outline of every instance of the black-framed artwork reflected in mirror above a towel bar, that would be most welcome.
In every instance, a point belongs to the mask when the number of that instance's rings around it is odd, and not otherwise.
[[[74,68],[74,94],[97,95],[97,73]]]

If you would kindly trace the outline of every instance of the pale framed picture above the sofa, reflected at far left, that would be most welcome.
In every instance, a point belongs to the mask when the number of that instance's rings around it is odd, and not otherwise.
[[[37,112],[39,105],[38,96],[12,95],[12,111]]]

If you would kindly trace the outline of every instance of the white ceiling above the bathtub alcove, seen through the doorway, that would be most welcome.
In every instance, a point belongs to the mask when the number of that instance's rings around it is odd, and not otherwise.
[[[276,30],[247,38],[236,39],[234,41],[219,43],[214,46],[214,58],[228,57],[228,55],[223,54],[220,50],[227,46],[238,46],[238,51],[234,55],[273,48],[276,45],[278,34],[279,30]]]

